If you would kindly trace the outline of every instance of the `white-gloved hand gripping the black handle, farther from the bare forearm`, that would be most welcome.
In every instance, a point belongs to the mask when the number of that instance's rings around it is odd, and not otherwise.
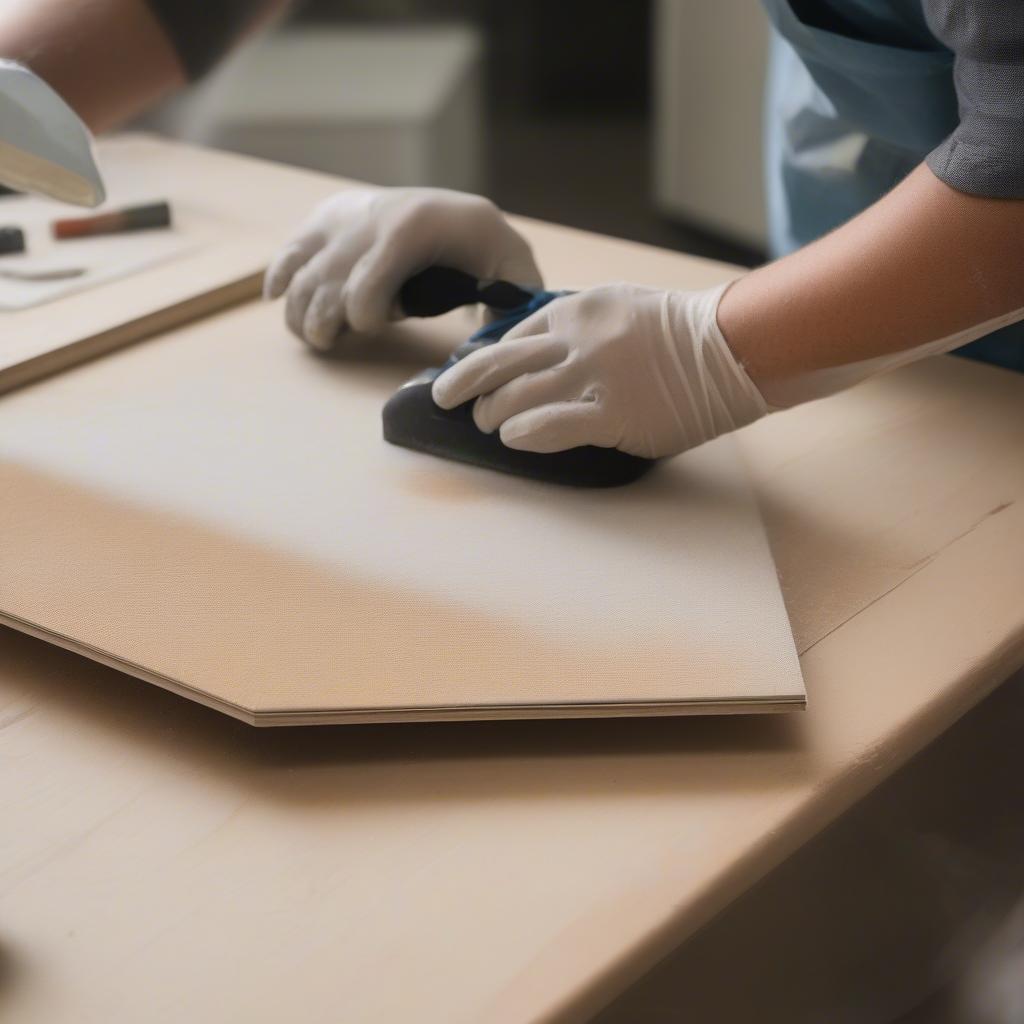
[[[398,318],[398,290],[437,265],[542,285],[526,240],[488,200],[443,188],[353,188],[313,211],[267,270],[263,294],[287,290],[289,328],[328,349],[346,329],[376,331]]]

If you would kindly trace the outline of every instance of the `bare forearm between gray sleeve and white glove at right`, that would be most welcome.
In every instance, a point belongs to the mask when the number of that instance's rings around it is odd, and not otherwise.
[[[858,217],[740,279],[719,325],[780,380],[936,341],[1024,307],[1024,201],[966,196],[921,166]]]

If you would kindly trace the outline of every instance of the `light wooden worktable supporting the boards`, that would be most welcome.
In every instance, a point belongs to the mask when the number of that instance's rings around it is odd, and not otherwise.
[[[104,159],[281,234],[339,185]],[[522,226],[559,284],[732,272]],[[1024,378],[940,358],[740,436],[803,715],[258,731],[0,632],[0,1017],[587,1019],[1024,664]]]

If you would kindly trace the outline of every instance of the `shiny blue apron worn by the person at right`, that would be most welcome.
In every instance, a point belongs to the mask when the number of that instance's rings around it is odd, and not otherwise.
[[[870,206],[958,124],[953,56],[920,5],[830,3],[856,35],[805,23],[788,0],[764,0],[775,30],[765,108],[773,256]],[[958,354],[1024,372],[1024,325]]]

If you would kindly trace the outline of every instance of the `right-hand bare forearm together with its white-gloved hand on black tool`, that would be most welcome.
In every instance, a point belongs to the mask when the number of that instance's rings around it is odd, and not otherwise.
[[[828,237],[731,287],[611,285],[546,301],[433,382],[523,452],[677,455],[1024,318],[1024,200],[921,168]]]

